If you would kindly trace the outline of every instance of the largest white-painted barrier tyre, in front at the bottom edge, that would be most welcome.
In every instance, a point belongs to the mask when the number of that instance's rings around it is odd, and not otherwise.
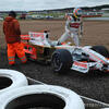
[[[85,109],[71,89],[52,85],[29,85],[10,90],[0,98],[0,109]]]

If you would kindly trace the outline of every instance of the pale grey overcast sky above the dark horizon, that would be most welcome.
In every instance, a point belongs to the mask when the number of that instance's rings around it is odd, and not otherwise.
[[[50,10],[109,4],[109,0],[0,0],[0,11]]]

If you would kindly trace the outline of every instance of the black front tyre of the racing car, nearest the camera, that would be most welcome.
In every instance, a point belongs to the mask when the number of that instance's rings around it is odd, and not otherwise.
[[[55,72],[65,73],[72,66],[72,55],[66,49],[57,49],[52,53],[51,66]]]

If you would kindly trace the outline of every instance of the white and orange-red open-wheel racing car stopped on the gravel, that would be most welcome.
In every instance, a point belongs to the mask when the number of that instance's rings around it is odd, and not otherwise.
[[[22,35],[24,51],[32,60],[51,63],[55,72],[75,70],[87,73],[89,70],[109,71],[109,51],[104,46],[71,46],[69,43],[57,45],[48,38],[48,32],[31,32]]]

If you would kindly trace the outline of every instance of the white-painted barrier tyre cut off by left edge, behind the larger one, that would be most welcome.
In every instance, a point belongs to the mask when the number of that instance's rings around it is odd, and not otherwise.
[[[27,78],[21,72],[14,70],[0,69],[0,95],[10,89],[26,86]]]

